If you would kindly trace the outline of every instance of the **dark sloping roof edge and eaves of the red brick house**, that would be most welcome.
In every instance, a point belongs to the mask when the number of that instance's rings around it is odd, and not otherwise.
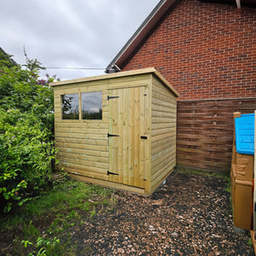
[[[241,4],[249,4],[256,6],[256,0],[198,0],[201,2],[208,3],[231,3],[236,4],[237,8],[241,8]],[[146,20],[143,21],[143,24],[139,26],[137,31],[131,36],[128,42],[120,49],[119,53],[113,58],[108,64],[108,67],[105,70],[105,73],[114,73],[119,72],[124,66],[125,61],[134,54],[139,45],[147,38],[148,33],[152,31],[157,22],[166,15],[166,12],[175,6],[175,3],[179,0],[160,0],[160,3],[153,9],[153,11],[148,15]]]

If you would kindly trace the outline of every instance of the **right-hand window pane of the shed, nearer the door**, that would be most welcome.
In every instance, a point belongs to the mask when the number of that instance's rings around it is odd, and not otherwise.
[[[82,93],[83,119],[102,119],[102,91]]]

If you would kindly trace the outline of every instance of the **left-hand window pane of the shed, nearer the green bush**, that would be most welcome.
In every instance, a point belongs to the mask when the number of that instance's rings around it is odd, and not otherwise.
[[[62,119],[79,119],[79,94],[62,95]]]

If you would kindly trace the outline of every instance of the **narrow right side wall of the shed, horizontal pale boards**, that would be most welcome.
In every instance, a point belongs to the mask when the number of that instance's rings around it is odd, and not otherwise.
[[[154,190],[176,165],[177,100],[156,78],[152,84],[151,185]]]

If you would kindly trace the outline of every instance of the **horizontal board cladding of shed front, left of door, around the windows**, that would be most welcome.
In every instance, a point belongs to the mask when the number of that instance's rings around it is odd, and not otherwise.
[[[108,90],[102,90],[102,120],[61,119],[61,95],[96,91],[80,85],[55,88],[55,146],[65,171],[108,180]]]

